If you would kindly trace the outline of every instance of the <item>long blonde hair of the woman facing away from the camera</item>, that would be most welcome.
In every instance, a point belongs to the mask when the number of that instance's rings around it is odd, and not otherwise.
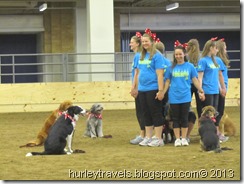
[[[197,39],[190,39],[188,41],[186,52],[188,54],[189,62],[191,62],[194,66],[197,66],[200,56],[199,42]]]

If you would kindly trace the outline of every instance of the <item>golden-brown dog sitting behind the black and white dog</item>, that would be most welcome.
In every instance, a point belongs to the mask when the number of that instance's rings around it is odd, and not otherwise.
[[[59,105],[58,109],[55,109],[49,117],[46,118],[46,120],[44,121],[44,125],[42,127],[42,129],[40,130],[40,132],[37,135],[36,140],[30,141],[29,143],[20,146],[20,148],[22,147],[34,147],[34,146],[41,146],[43,145],[44,141],[46,140],[49,130],[52,127],[52,125],[54,124],[54,122],[56,121],[56,119],[64,112],[68,109],[68,107],[72,106],[73,103],[70,100],[65,100],[63,103],[61,103]]]

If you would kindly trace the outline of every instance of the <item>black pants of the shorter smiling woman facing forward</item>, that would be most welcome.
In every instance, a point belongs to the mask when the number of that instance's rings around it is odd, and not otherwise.
[[[173,128],[188,127],[188,112],[191,102],[181,104],[170,104],[172,111]]]

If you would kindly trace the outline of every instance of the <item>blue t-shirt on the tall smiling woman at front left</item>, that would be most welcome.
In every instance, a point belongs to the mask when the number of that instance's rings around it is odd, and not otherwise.
[[[158,89],[158,77],[156,70],[165,68],[165,60],[159,52],[156,52],[149,60],[150,54],[146,53],[144,60],[139,60],[138,91],[151,91]]]

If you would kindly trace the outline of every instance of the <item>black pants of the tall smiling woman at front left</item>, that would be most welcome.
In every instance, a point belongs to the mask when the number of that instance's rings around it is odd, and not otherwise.
[[[164,124],[162,114],[162,101],[155,99],[158,90],[140,92],[138,94],[142,107],[143,123],[145,126],[162,126]]]

